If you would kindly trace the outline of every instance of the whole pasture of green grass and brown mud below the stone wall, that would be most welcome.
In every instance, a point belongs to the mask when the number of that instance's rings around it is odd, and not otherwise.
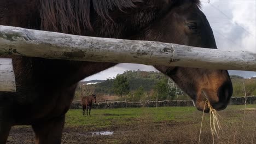
[[[215,143],[256,143],[256,105],[229,105],[221,116],[222,131]],[[199,143],[202,112],[195,107],[69,110],[62,143]],[[98,135],[110,131],[113,135]],[[112,133],[113,132],[113,133]],[[34,143],[31,127],[11,129],[7,143]],[[200,143],[212,143],[210,115],[202,125]]]

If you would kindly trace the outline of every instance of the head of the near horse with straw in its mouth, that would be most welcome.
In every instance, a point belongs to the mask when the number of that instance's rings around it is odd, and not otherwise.
[[[147,40],[217,49],[216,41],[199,1],[182,0],[173,3],[170,11],[145,32]],[[223,110],[232,95],[232,83],[227,70],[165,67],[156,69],[170,76],[194,101],[198,110],[209,109],[206,100],[216,110]],[[205,106],[206,105],[206,106]]]

